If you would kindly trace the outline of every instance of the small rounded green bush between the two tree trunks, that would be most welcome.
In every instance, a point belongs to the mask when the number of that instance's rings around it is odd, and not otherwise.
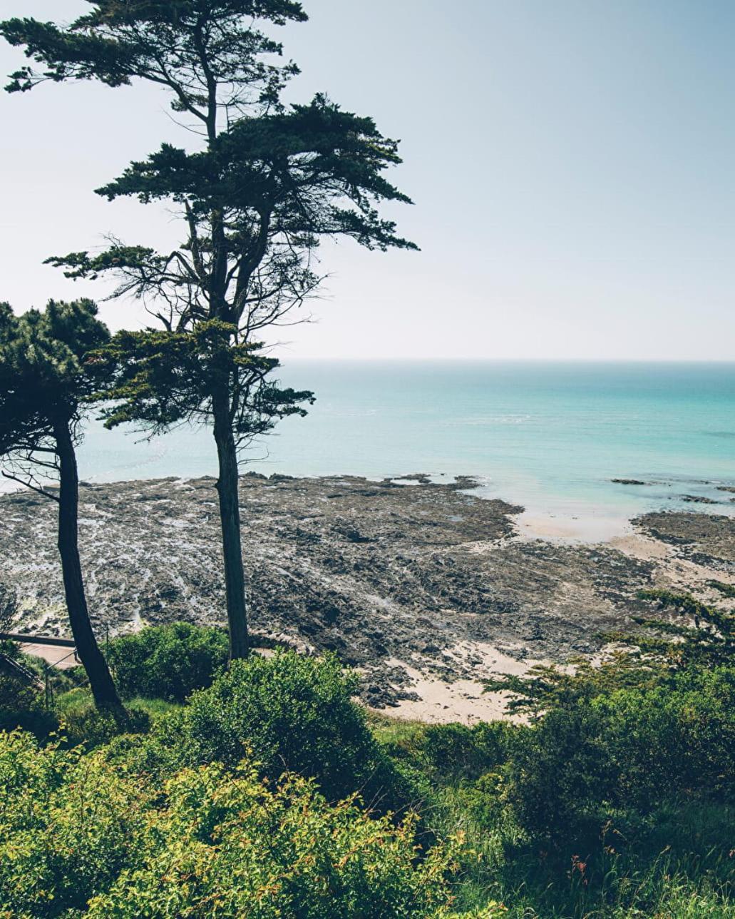
[[[187,622],[153,626],[113,639],[106,656],[123,698],[183,702],[224,669],[227,633]]]

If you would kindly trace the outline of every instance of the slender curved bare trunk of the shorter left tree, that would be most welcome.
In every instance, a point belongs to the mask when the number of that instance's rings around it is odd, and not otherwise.
[[[89,612],[86,606],[85,584],[82,579],[82,563],[79,561],[78,511],[79,474],[76,468],[74,441],[66,421],[54,428],[56,448],[59,456],[59,554],[62,557],[63,589],[69,622],[79,655],[97,709],[122,711],[115,684],[112,681],[107,661],[97,645]]]

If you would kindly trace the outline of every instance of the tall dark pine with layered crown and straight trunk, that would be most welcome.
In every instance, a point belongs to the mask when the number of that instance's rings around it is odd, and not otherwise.
[[[313,293],[319,283],[315,254],[324,237],[351,238],[370,249],[415,248],[378,211],[381,201],[410,203],[383,176],[401,162],[398,144],[372,119],[342,111],[325,96],[288,109],[280,103],[298,70],[292,63],[274,65],[281,47],[256,26],[259,20],[304,20],[299,3],[99,0],[91,6],[66,28],[33,19],[0,23],[6,40],[42,65],[40,72],[28,66],[12,74],[7,88],[23,92],[49,80],[96,79],[110,86],[150,81],[170,91],[172,108],[204,139],[194,153],[164,144],[98,190],[110,200],[166,200],[178,207],[182,237],[173,252],[115,241],[102,254],[51,262],[72,278],[111,271],[120,278],[120,295],[147,301],[160,334],[216,335],[222,352],[232,350],[232,369],[197,376],[190,395],[202,397],[198,404],[217,445],[232,656],[240,657],[248,648],[237,447],[240,420],[252,415],[247,399],[253,390],[239,385],[234,355],[268,326],[288,322],[288,313]],[[128,341],[133,352],[142,344]],[[118,345],[123,363],[126,340]],[[160,427],[176,400],[187,403],[184,375],[173,389],[170,380],[170,374],[152,372],[145,400],[130,392],[125,419],[150,421],[153,414]],[[125,399],[124,392],[118,395]],[[110,422],[119,417],[111,415]]]

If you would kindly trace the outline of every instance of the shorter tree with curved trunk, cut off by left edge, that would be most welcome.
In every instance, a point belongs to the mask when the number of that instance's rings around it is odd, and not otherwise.
[[[0,304],[0,460],[6,478],[59,505],[59,553],[76,649],[99,709],[121,703],[89,621],[78,545],[75,444],[94,384],[83,359],[109,334],[96,305],[50,301],[15,316]],[[58,492],[44,482],[56,479]]]

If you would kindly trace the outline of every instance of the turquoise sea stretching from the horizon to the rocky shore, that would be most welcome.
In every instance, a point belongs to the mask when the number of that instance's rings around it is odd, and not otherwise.
[[[735,513],[735,494],[717,487],[735,486],[735,363],[293,361],[280,379],[317,402],[250,450],[243,471],[470,474],[482,495],[580,538],[650,509]],[[216,470],[208,429],[141,443],[94,424],[80,449],[88,481]]]

